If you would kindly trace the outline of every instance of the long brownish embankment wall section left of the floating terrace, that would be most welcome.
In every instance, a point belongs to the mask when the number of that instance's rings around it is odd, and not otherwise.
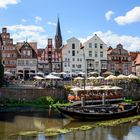
[[[66,99],[64,89],[0,88],[0,98],[32,100],[42,96]]]

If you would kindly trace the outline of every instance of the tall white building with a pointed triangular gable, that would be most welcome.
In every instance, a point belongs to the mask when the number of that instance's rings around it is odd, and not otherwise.
[[[84,43],[86,72],[107,70],[107,45],[95,34]]]

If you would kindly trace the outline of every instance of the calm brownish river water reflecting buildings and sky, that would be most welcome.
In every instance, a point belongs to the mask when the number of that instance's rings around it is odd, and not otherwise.
[[[78,122],[62,118],[56,111],[0,114],[0,140],[140,140],[140,121],[113,127],[76,130],[56,136],[45,136],[46,129],[77,128],[94,122]],[[37,131],[35,135],[21,132]],[[14,137],[13,137],[14,136]]]

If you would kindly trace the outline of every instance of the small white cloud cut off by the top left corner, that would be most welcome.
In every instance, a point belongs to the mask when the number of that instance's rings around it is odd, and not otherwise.
[[[0,0],[0,8],[7,8],[8,5],[18,4],[21,0]]]

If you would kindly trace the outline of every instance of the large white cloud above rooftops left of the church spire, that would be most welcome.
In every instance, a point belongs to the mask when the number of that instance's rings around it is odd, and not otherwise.
[[[23,42],[26,39],[30,42],[37,42],[38,48],[45,48],[47,45],[47,38],[45,29],[36,25],[13,25],[7,26],[11,33],[11,37],[16,42]]]

